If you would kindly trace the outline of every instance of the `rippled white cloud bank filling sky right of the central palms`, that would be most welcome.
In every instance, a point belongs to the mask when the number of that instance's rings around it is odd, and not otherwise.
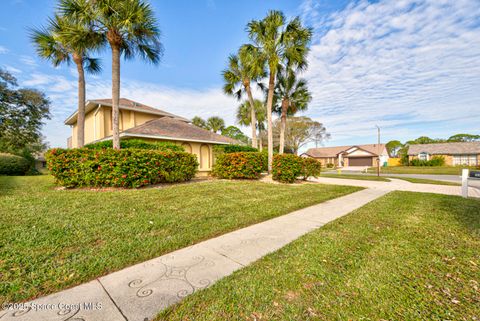
[[[308,114],[332,132],[330,145],[386,138],[445,137],[480,121],[477,0],[360,1],[329,16],[305,1],[315,29],[304,75]]]

